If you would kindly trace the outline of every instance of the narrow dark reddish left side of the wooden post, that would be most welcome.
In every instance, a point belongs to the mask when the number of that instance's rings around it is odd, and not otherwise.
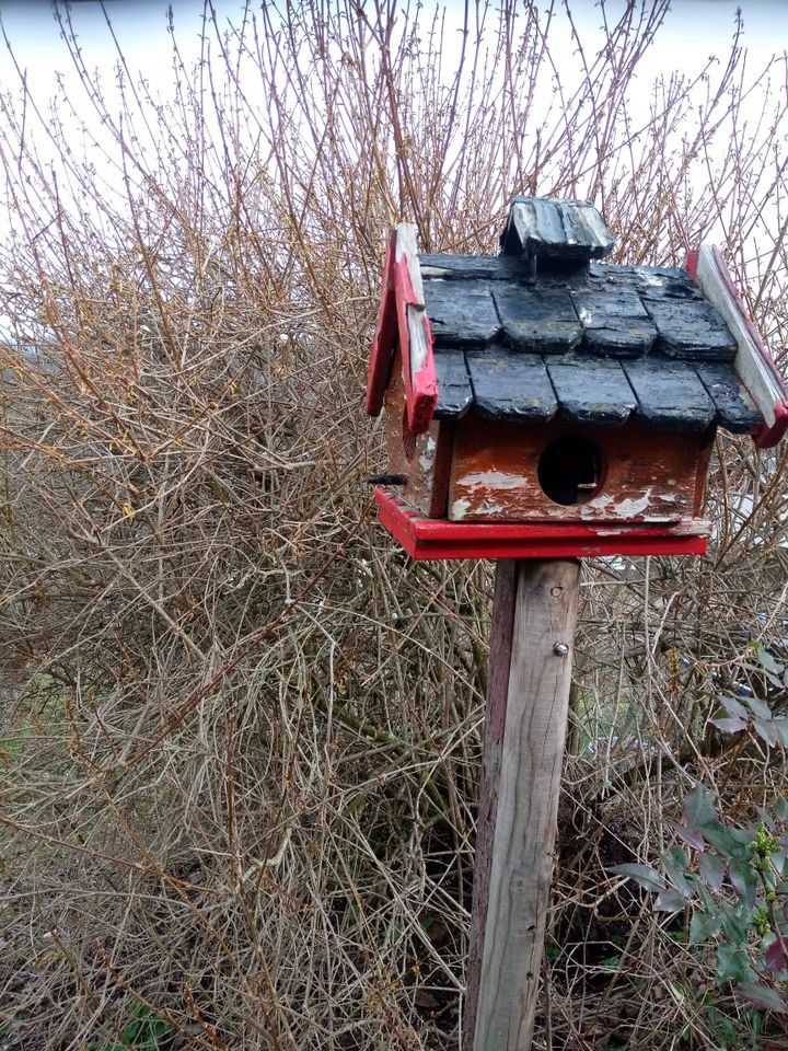
[[[490,864],[496,827],[496,789],[500,779],[503,728],[506,726],[509,668],[511,665],[517,566],[512,558],[496,564],[493,621],[490,625],[489,678],[485,715],[484,755],[476,819],[476,856],[474,858],[473,909],[471,913],[471,952],[467,967],[467,992],[463,1019],[463,1051],[473,1051],[476,1027],[485,925],[489,901]]]

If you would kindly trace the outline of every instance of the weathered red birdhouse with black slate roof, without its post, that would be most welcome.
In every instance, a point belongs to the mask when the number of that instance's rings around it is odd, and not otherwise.
[[[519,197],[501,254],[387,246],[367,411],[381,520],[416,558],[706,550],[715,434],[788,396],[716,249],[618,266],[592,205]]]

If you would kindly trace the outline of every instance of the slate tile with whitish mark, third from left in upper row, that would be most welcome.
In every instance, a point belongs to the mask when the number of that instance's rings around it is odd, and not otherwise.
[[[634,288],[600,288],[593,282],[570,292],[583,326],[583,349],[610,357],[639,357],[657,338],[657,328]]]

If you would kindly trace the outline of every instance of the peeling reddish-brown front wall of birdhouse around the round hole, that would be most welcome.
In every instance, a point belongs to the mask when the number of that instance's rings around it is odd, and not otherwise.
[[[554,504],[538,481],[542,453],[565,436],[594,443],[603,465],[599,492],[572,506]],[[470,413],[454,432],[448,517],[453,522],[614,524],[693,518],[702,442],[702,434],[657,436],[633,418],[617,428],[559,419],[537,427]]]

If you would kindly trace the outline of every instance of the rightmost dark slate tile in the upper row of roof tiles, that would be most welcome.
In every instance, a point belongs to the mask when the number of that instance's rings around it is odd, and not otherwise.
[[[657,348],[672,358],[732,361],[737,344],[709,303],[681,299],[645,299],[657,325]]]

